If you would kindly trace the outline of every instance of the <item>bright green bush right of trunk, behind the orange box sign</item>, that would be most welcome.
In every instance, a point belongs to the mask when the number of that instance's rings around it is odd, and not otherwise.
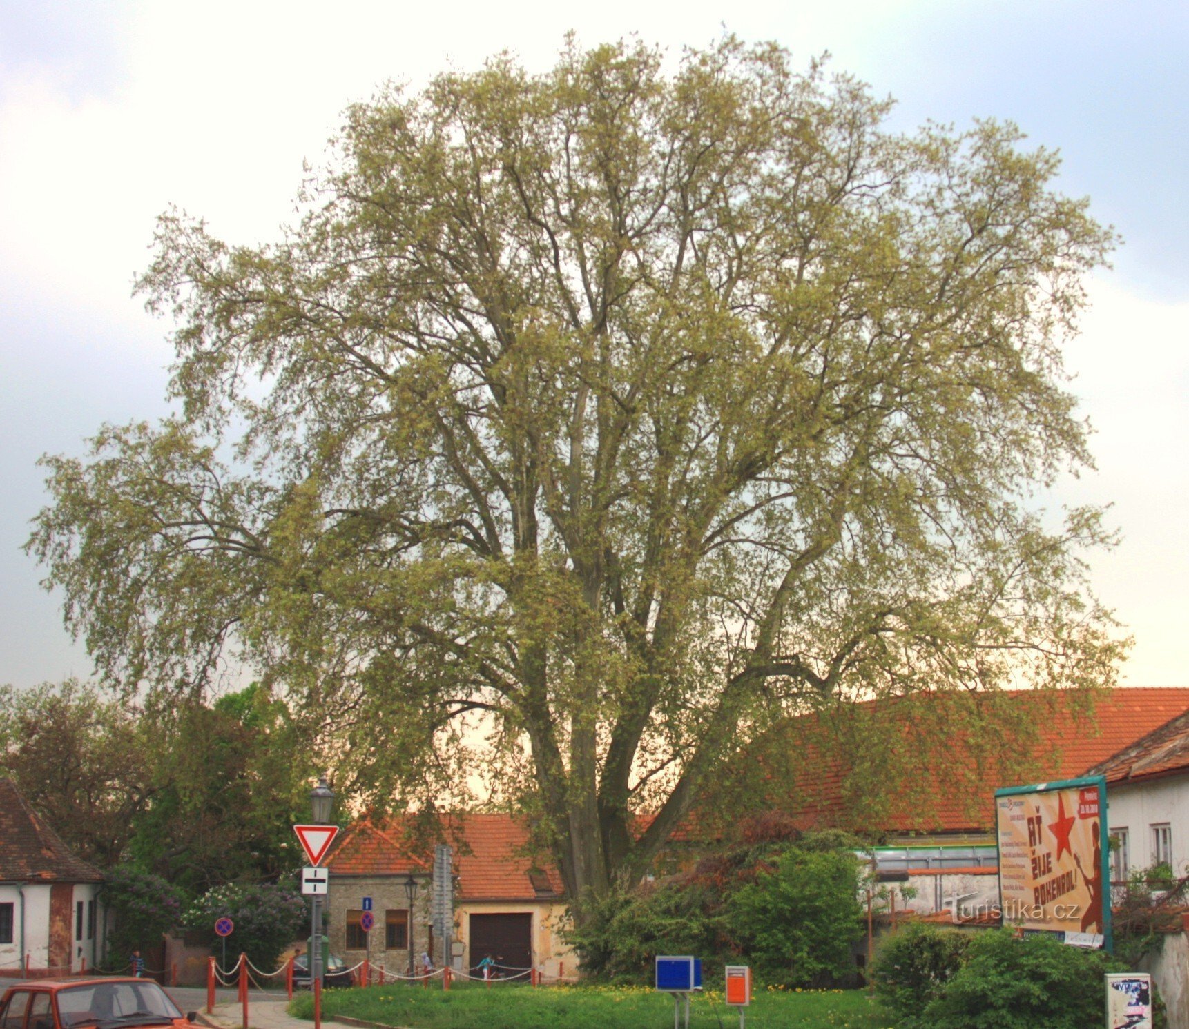
[[[780,856],[728,901],[740,953],[774,981],[828,986],[854,976],[851,945],[862,936],[858,858],[849,851]]]

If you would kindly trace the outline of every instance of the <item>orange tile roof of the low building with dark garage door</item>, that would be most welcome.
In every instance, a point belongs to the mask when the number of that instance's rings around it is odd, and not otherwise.
[[[428,875],[433,858],[410,840],[411,821],[361,819],[335,841],[326,866],[335,876]],[[454,846],[454,873],[460,901],[539,901],[560,897],[561,876],[543,856],[529,850],[523,819],[503,814],[445,815],[441,832]],[[531,873],[531,875],[530,875]],[[543,878],[540,873],[543,873]],[[547,885],[548,892],[534,886]]]

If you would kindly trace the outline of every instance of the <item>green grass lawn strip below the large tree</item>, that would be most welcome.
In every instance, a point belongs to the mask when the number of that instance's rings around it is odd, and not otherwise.
[[[289,1010],[314,1017],[314,999],[295,996]],[[531,986],[501,983],[485,989],[455,983],[328,990],[323,1015],[347,1015],[409,1029],[665,1029],[673,1024],[673,999],[643,986]],[[684,1018],[682,1018],[684,1024]],[[690,1003],[690,1029],[734,1029],[738,1009],[707,990]],[[754,1029],[889,1029],[891,1021],[860,990],[757,991],[747,1010]]]

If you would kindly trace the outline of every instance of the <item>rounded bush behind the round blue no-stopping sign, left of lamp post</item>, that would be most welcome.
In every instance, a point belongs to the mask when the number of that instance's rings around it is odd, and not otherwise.
[[[247,954],[258,968],[271,972],[281,952],[307,935],[309,913],[301,894],[270,883],[231,884],[207,890],[185,911],[185,926],[207,934],[214,951],[219,945],[215,921],[229,917],[235,930],[228,948]]]

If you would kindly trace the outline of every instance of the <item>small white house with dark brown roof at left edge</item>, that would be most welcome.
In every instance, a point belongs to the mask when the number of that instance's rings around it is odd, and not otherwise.
[[[0,976],[63,976],[99,957],[103,876],[0,779]]]

